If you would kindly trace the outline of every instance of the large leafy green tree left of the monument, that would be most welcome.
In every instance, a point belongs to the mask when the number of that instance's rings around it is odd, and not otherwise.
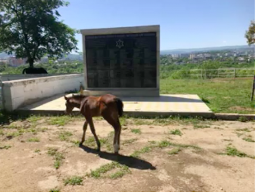
[[[26,58],[33,68],[43,56],[77,50],[76,30],[58,20],[62,0],[0,0],[0,50]]]

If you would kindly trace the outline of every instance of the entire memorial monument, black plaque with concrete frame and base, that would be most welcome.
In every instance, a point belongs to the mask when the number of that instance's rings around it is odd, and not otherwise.
[[[159,25],[80,32],[84,95],[159,96]]]

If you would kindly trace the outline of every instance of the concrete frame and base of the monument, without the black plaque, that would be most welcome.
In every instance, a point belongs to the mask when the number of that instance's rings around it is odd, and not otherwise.
[[[86,64],[86,35],[111,35],[121,33],[145,33],[156,32],[157,37],[157,80],[156,88],[88,88],[87,84],[87,64]],[[85,90],[84,95],[103,95],[111,93],[117,96],[136,96],[136,97],[155,97],[160,95],[160,25],[152,26],[135,26],[135,27],[118,27],[118,28],[100,28],[100,29],[81,29],[83,40],[83,62],[84,62],[84,77],[85,77]]]

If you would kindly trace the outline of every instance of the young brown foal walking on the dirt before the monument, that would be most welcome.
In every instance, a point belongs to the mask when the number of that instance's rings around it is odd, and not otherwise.
[[[97,143],[97,151],[100,151],[100,141],[95,133],[92,117],[102,116],[112,127],[114,128],[114,141],[113,148],[114,153],[118,154],[120,150],[120,134],[121,124],[119,117],[123,115],[123,101],[111,94],[105,94],[101,96],[85,96],[85,95],[72,95],[71,97],[64,96],[66,100],[65,114],[70,114],[73,108],[80,109],[80,113],[85,116],[86,121],[83,125],[83,136],[80,142],[80,146],[85,141],[85,133],[87,125],[89,124],[91,132]]]

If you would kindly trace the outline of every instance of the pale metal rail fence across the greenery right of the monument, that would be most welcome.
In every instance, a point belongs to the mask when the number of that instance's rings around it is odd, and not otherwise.
[[[219,69],[190,69],[190,70],[161,70],[160,78],[171,79],[211,79],[254,77],[254,68],[219,68]]]

